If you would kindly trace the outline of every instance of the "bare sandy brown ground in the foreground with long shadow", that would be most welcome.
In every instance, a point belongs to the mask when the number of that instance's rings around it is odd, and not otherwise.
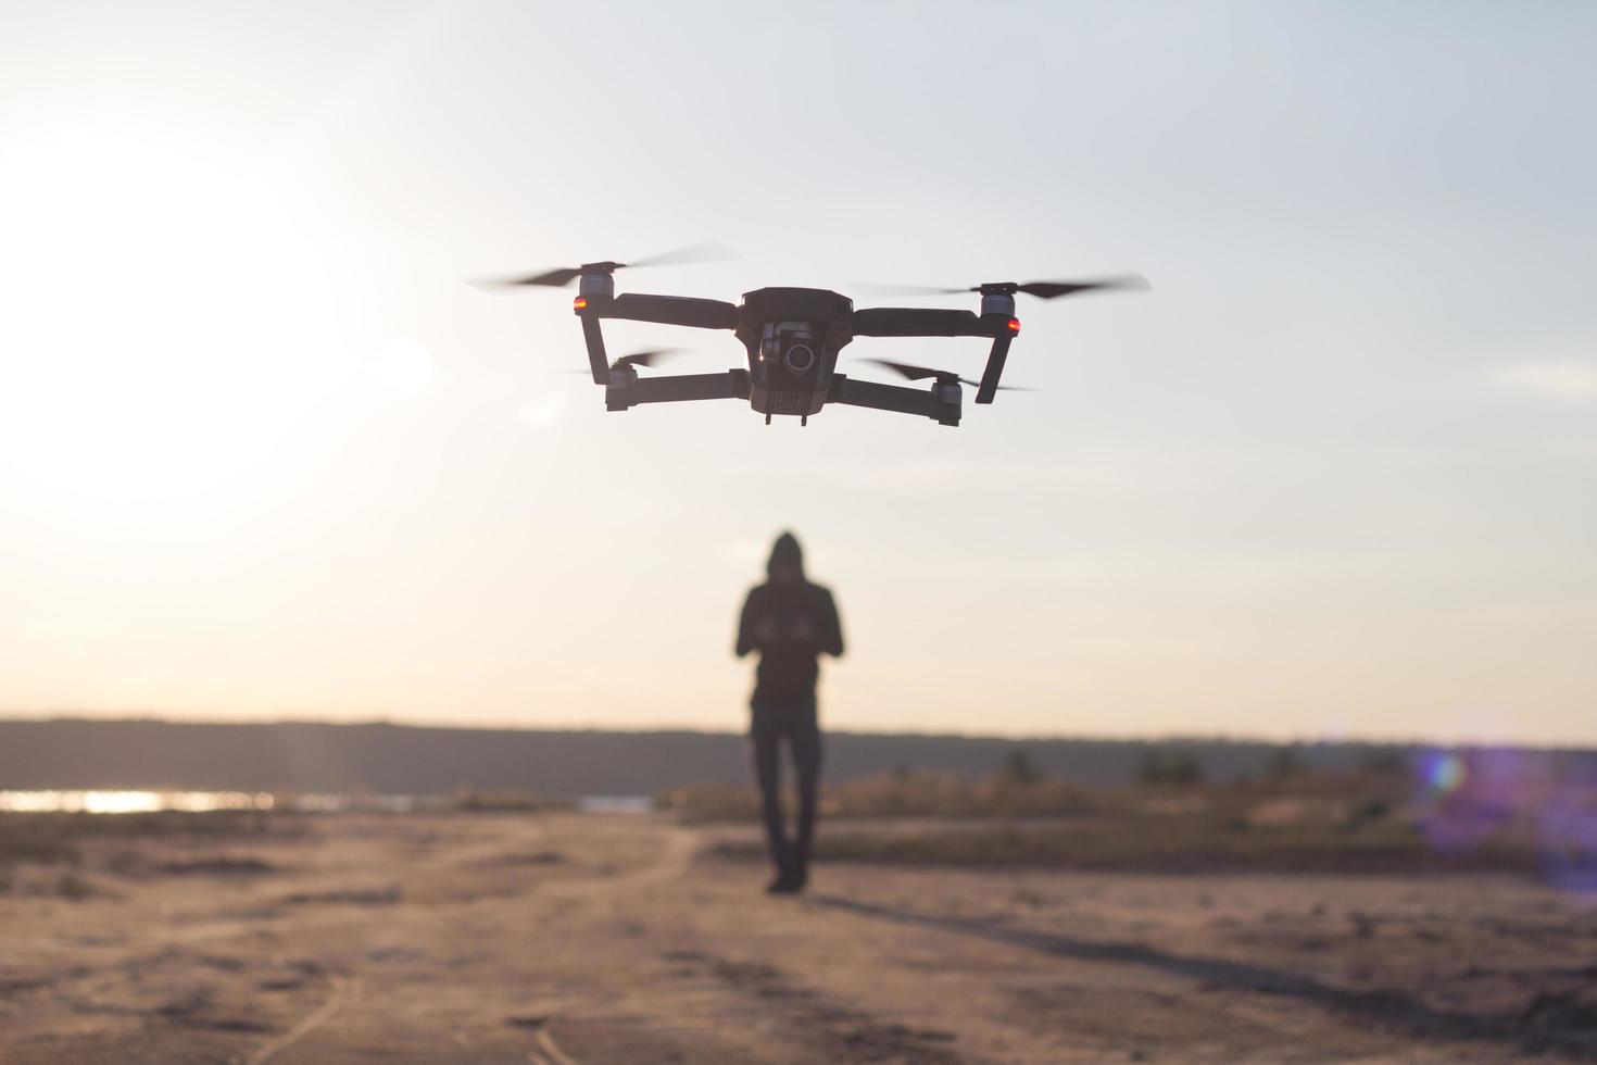
[[[308,821],[0,894],[0,1062],[1597,1059],[1597,910],[1525,880],[830,865],[770,899],[655,816]]]

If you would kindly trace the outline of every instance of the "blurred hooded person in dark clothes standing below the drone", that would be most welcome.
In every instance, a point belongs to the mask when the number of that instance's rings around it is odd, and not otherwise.
[[[843,653],[843,626],[832,592],[805,578],[798,540],[784,532],[771,546],[767,581],[749,589],[738,621],[736,655],[760,653],[749,699],[749,742],[760,784],[765,833],[776,878],[767,891],[794,894],[810,880],[816,798],[821,784],[821,725],[814,682],[821,655]],[[798,825],[789,843],[781,794],[781,742],[798,776]]]

